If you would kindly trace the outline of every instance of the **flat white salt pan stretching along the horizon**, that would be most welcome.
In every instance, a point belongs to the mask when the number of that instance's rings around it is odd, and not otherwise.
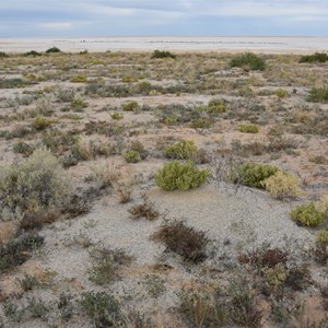
[[[90,52],[152,51],[178,52],[254,51],[265,54],[309,54],[328,51],[328,36],[85,36],[0,38],[0,51],[45,51],[50,47],[62,51]]]

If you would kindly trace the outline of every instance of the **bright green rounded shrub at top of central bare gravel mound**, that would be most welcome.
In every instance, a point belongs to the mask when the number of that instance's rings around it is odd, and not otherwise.
[[[174,161],[159,169],[155,180],[157,186],[166,191],[187,190],[199,187],[209,176],[209,169],[200,171],[192,162],[183,164]]]

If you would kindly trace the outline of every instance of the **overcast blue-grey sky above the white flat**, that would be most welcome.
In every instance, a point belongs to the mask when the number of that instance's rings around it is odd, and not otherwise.
[[[0,0],[0,37],[328,35],[328,0]]]

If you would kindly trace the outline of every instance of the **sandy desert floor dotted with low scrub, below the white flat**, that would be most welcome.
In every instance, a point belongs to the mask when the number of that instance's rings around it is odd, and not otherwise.
[[[260,54],[266,68],[251,70],[218,51],[4,55],[0,253],[20,259],[0,259],[0,327],[328,327],[328,242],[317,237],[328,96],[311,97],[325,92],[328,61]],[[181,141],[192,154],[169,154]],[[37,150],[59,163],[66,199],[7,209],[4,181],[17,186],[7,169]],[[173,160],[210,176],[162,190],[155,176]],[[297,192],[245,186],[234,174],[248,162],[294,176]],[[291,220],[325,199],[318,226]],[[171,248],[155,234],[174,226],[186,230],[169,232]],[[11,250],[26,234],[43,245]],[[198,241],[199,257],[179,250]]]

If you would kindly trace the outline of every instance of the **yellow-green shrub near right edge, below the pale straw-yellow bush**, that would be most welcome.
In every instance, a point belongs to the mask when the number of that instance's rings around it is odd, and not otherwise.
[[[290,212],[290,216],[300,225],[317,226],[325,220],[325,213],[318,211],[315,203],[304,203]]]

